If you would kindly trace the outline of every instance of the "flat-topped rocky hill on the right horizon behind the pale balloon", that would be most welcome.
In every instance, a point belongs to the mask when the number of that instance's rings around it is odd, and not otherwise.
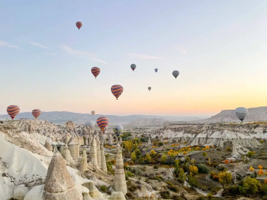
[[[248,108],[248,116],[244,121],[267,121],[267,106]],[[191,123],[239,122],[234,110],[223,110],[209,119],[191,121]]]

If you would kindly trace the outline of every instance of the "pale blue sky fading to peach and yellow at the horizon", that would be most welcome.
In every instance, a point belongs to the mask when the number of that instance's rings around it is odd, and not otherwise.
[[[266,0],[3,1],[0,114],[8,105],[161,116],[266,106],[266,10]]]

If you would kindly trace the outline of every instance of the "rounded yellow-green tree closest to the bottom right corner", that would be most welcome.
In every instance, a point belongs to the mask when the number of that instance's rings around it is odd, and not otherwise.
[[[254,195],[260,189],[261,185],[255,178],[247,176],[244,178],[243,185],[240,187],[240,192],[245,195]]]

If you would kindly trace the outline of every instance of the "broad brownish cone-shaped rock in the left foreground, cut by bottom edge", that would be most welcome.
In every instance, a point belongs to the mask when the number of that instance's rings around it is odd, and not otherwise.
[[[59,151],[54,154],[47,169],[43,199],[82,200],[82,194],[75,188],[65,161]]]

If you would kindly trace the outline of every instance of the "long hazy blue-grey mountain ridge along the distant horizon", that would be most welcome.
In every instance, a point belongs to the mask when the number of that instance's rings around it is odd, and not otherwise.
[[[51,112],[42,112],[42,114],[38,117],[38,119],[47,120],[49,122],[53,122],[55,124],[64,124],[66,121],[73,121],[76,124],[84,124],[86,121],[96,121],[96,119],[100,116],[106,116],[109,119],[109,124],[127,124],[136,119],[140,118],[164,118],[169,121],[188,121],[194,120],[196,117],[173,117],[173,116],[153,116],[153,115],[128,115],[128,116],[116,116],[116,115],[91,115],[84,113],[73,113],[67,111],[51,111]],[[8,114],[0,115],[0,120],[8,118]],[[34,119],[31,112],[19,113],[15,119]],[[206,117],[199,117],[206,118]]]

